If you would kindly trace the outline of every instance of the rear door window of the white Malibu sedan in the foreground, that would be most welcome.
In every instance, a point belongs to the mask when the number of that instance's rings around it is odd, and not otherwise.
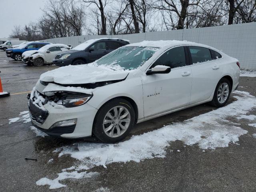
[[[211,52],[208,48],[189,46],[193,64],[212,60]]]

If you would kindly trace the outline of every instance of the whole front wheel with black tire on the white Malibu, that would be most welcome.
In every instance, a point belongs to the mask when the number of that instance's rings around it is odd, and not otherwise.
[[[116,98],[110,100],[98,110],[94,118],[92,132],[102,142],[115,143],[129,134],[134,122],[135,112],[132,104],[125,99]]]

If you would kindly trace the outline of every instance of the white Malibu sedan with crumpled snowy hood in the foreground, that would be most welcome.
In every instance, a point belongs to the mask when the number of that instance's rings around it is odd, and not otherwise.
[[[28,95],[30,117],[50,136],[118,142],[136,123],[206,102],[224,106],[239,74],[237,59],[203,44],[128,44],[42,74]]]

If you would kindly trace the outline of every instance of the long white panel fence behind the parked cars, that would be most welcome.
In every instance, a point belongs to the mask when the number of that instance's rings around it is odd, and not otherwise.
[[[237,58],[242,69],[256,70],[256,22],[139,34],[83,35],[46,39],[44,42],[77,46],[89,39],[104,37],[127,39],[130,40],[130,43],[143,40],[187,40],[202,43]]]

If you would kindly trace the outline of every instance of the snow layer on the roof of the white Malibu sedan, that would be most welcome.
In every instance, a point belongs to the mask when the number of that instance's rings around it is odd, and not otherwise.
[[[169,48],[177,45],[196,45],[196,46],[206,46],[203,44],[190,42],[190,41],[178,41],[178,40],[159,40],[159,41],[142,41],[139,43],[132,43],[126,46],[140,46],[140,47],[158,47],[158,48]],[[210,47],[210,46],[208,46]]]

